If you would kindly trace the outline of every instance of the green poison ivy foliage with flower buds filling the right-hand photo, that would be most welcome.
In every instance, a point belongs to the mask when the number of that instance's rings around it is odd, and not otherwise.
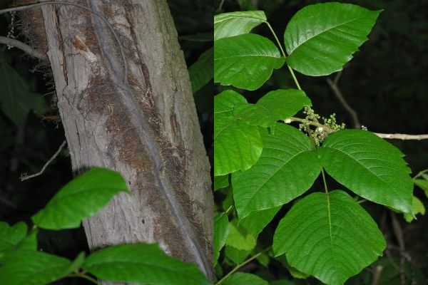
[[[255,90],[286,66],[296,85],[272,90],[255,104],[237,89],[215,95],[215,190],[228,187],[220,207],[228,210],[215,217],[215,263],[223,247],[230,260],[242,262],[282,205],[293,202],[267,254],[282,259],[293,276],[344,284],[386,248],[357,197],[414,217],[414,181],[402,152],[368,130],[345,129],[334,115],[320,118],[295,76],[341,71],[367,41],[380,12],[353,4],[306,6],[287,24],[284,48],[263,11],[215,16],[215,83]],[[275,42],[251,33],[263,24]],[[305,118],[293,117],[300,110]],[[342,189],[329,189],[326,174]],[[317,177],[324,189],[305,195]],[[247,284],[251,278],[233,273],[218,284]]]

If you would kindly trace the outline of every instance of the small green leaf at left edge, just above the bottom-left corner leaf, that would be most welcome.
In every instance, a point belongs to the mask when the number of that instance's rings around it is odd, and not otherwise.
[[[0,222],[0,253],[16,247],[27,233],[27,226],[24,222],[9,226],[6,222]]]

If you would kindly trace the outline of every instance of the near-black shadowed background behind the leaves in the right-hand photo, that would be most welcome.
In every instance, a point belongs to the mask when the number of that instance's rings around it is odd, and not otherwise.
[[[282,42],[287,22],[302,7],[326,1],[282,1],[282,0],[226,0],[215,1],[216,14],[231,11],[263,10],[278,38]],[[382,13],[370,33],[369,40],[345,66],[338,83],[343,96],[357,112],[360,122],[375,133],[428,133],[428,1],[381,1],[353,0],[340,1],[363,6]],[[253,30],[275,42],[267,26]],[[275,42],[276,43],[276,42]],[[327,77],[309,77],[296,73],[300,86],[312,100],[312,108],[322,116],[336,113],[338,123],[346,123],[352,128],[352,119],[335,97],[326,82]],[[335,74],[328,76],[333,79]],[[215,86],[216,93],[230,87]],[[265,93],[278,88],[296,88],[287,68],[274,71],[265,85],[255,91],[237,90],[250,103],[255,103]],[[302,117],[302,114],[297,115]],[[428,140],[389,140],[406,155],[405,160],[412,169],[412,176],[428,168]],[[330,189],[343,188],[327,177]],[[320,190],[322,181],[317,180],[312,187]],[[427,197],[419,188],[414,195],[428,206]],[[355,196],[355,195],[353,195]],[[215,192],[218,204],[225,199],[221,192]],[[290,203],[292,204],[292,203]],[[272,243],[272,235],[290,204],[285,205],[275,219],[260,234],[260,249]],[[392,215],[402,231],[405,252],[404,284],[427,284],[428,279],[428,217],[418,215],[417,221],[407,223],[401,214],[392,214],[389,209],[364,202],[362,204],[375,219],[384,233],[388,248],[384,257],[363,270],[361,274],[346,284],[372,284],[375,266],[382,265],[383,271],[377,284],[401,284],[399,276],[400,253],[397,233],[392,227]],[[225,261],[223,271],[228,272],[233,265]],[[258,274],[268,281],[277,279],[293,280],[295,284],[320,284],[316,279],[292,279],[280,262],[270,261],[263,266],[254,261],[245,266],[245,271]],[[280,283],[278,283],[280,284]]]

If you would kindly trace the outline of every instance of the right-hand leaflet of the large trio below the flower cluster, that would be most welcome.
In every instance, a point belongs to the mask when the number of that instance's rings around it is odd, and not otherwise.
[[[328,174],[357,195],[412,214],[413,181],[397,147],[367,130],[340,130],[317,152]]]

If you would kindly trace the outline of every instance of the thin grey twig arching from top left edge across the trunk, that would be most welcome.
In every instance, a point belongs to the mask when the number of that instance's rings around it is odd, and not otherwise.
[[[39,2],[39,3],[34,3],[34,4],[11,7],[8,9],[1,9],[0,14],[12,12],[12,11],[22,11],[22,10],[27,10],[27,9],[36,8],[36,7],[45,6],[45,5],[75,6],[75,7],[78,7],[80,9],[89,11],[90,13],[98,16],[98,18],[100,18],[104,22],[104,24],[106,24],[108,29],[113,34],[116,43],[118,44],[119,51],[121,52],[121,57],[122,57],[122,61],[123,61],[123,69],[124,69],[124,71],[123,71],[123,73],[124,73],[123,83],[126,83],[126,81],[128,79],[128,66],[126,65],[126,56],[125,56],[125,52],[123,51],[122,43],[119,40],[119,37],[118,37],[116,31],[114,31],[113,26],[111,26],[111,24],[108,22],[108,19],[105,16],[98,13],[97,11],[95,11],[94,9],[88,8],[88,7],[83,6],[81,4],[76,4],[73,2],[67,2],[67,1],[45,1],[45,2]]]

